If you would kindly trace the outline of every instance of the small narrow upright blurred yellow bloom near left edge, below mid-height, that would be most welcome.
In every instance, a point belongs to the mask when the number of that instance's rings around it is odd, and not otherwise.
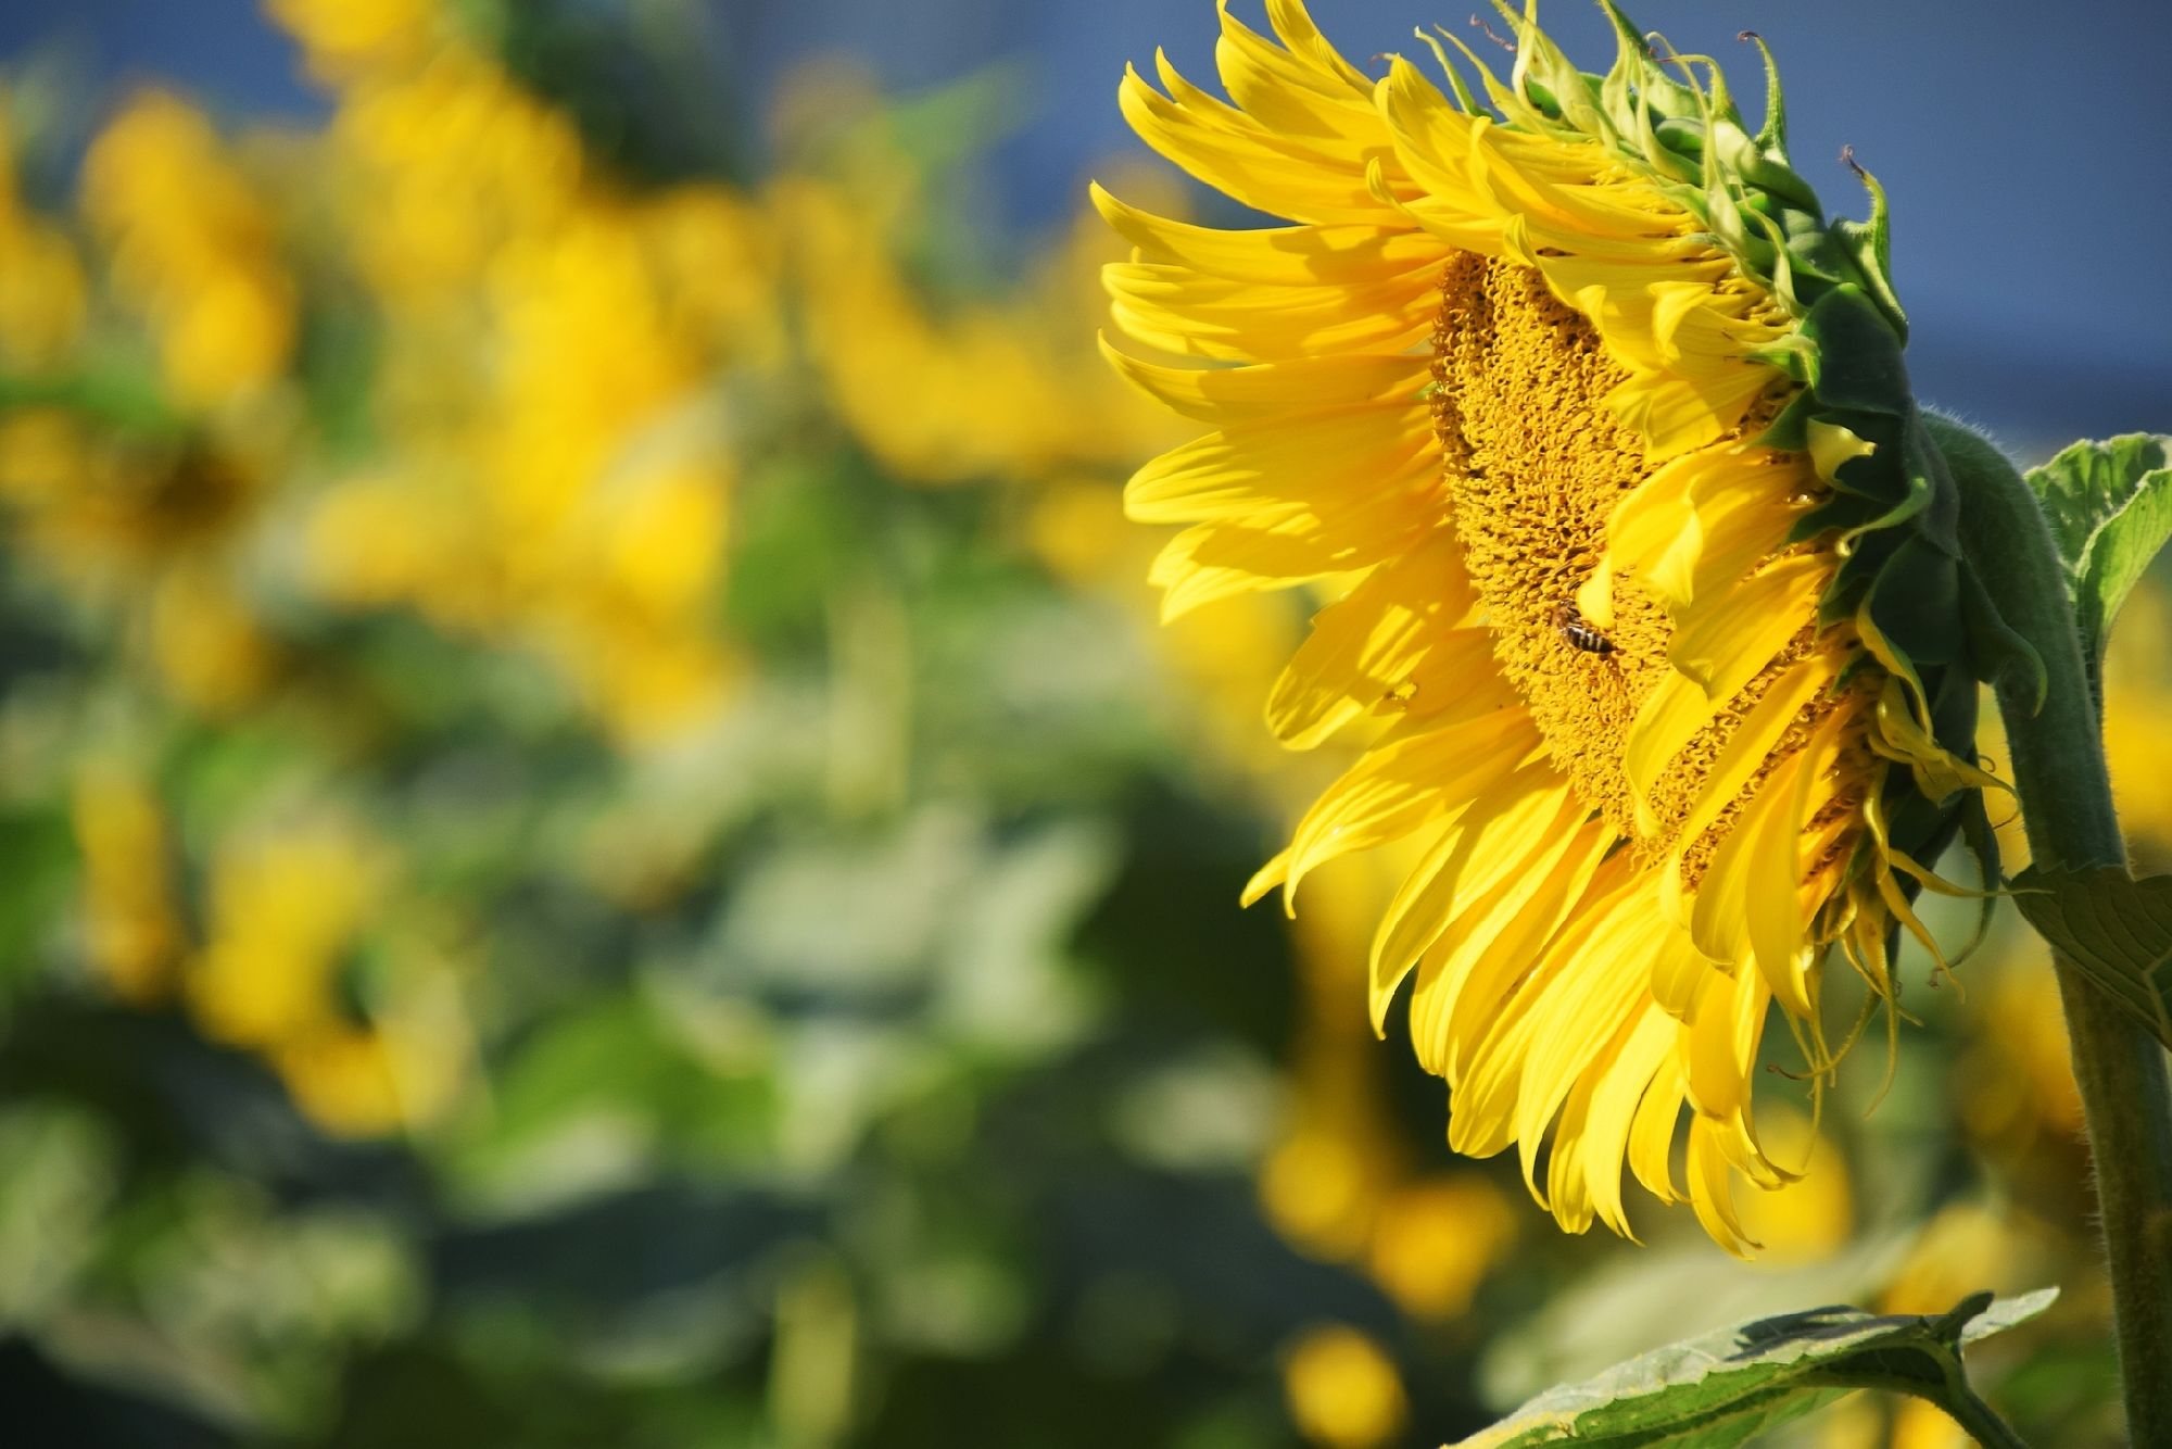
[[[87,760],[76,776],[74,826],[91,969],[124,1001],[156,1001],[172,991],[185,949],[165,812],[135,771]]]

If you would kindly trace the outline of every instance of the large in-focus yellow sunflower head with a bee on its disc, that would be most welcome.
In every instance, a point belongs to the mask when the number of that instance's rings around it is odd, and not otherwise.
[[[1901,930],[1937,949],[1927,862],[1963,826],[1987,849],[1977,678],[2022,658],[1907,389],[1883,193],[1864,176],[1872,219],[1827,222],[1770,54],[1753,133],[1718,65],[1612,7],[1603,76],[1505,7],[1505,80],[1420,35],[1447,89],[1401,56],[1366,76],[1301,0],[1266,11],[1273,35],[1223,7],[1232,100],[1160,59],[1121,104],[1292,224],[1095,189],[1134,248],[1116,326],[1188,358],[1110,361],[1212,428],[1125,493],[1188,524],[1164,613],[1334,595],[1266,717],[1362,754],[1247,902],[1403,841],[1373,1023],[1414,978],[1451,1147],[1518,1147],[1570,1232],[1631,1232],[1627,1167],[1742,1253],[1738,1182],[1796,1175],[1751,1110],[1770,1008],[1822,1086],[1892,1004]],[[1868,984],[1838,1047],[1835,954]]]

